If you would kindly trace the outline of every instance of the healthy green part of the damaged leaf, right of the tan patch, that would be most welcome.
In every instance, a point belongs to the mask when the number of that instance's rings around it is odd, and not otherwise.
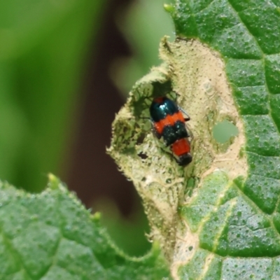
[[[208,279],[207,271],[218,258],[222,265],[216,267],[214,279],[274,279],[280,269],[280,9],[273,1],[176,1],[176,6],[184,5],[188,8],[172,10],[176,30],[192,38],[191,26],[181,19],[182,14],[192,15],[196,37],[217,50],[225,62],[244,123],[248,165],[244,183],[229,181],[228,187],[216,183],[211,190],[214,185],[208,187],[204,181],[197,197],[182,207],[190,228],[199,235],[197,252],[207,250],[204,272],[197,277]],[[216,193],[216,200],[207,201],[209,192]],[[228,192],[231,195],[225,199]],[[192,274],[192,269],[190,264],[183,265],[181,277]]]

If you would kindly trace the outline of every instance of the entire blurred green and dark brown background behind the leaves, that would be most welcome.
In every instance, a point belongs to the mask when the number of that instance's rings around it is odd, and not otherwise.
[[[131,255],[150,248],[148,223],[105,148],[130,88],[160,64],[160,38],[174,38],[166,2],[0,3],[0,179],[38,192],[60,176]]]

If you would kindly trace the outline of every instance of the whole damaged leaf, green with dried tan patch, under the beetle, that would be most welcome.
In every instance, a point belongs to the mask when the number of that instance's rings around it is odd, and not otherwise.
[[[113,123],[109,153],[144,200],[151,237],[176,279],[276,279],[280,254],[280,8],[276,1],[177,0],[179,38],[139,80]],[[146,118],[178,92],[190,114],[183,169]],[[174,95],[173,95],[174,97]],[[218,123],[239,134],[221,144]],[[137,168],[135,168],[137,167]]]

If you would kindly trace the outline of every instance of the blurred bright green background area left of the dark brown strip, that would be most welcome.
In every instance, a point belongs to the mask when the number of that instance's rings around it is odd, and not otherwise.
[[[38,191],[59,173],[101,3],[1,2],[1,179]]]

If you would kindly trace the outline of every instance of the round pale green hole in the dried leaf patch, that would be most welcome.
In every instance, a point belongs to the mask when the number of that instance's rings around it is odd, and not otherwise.
[[[238,128],[230,123],[228,120],[223,120],[223,122],[217,123],[213,127],[213,137],[218,143],[225,143],[230,140],[230,137],[235,137],[238,135]]]

